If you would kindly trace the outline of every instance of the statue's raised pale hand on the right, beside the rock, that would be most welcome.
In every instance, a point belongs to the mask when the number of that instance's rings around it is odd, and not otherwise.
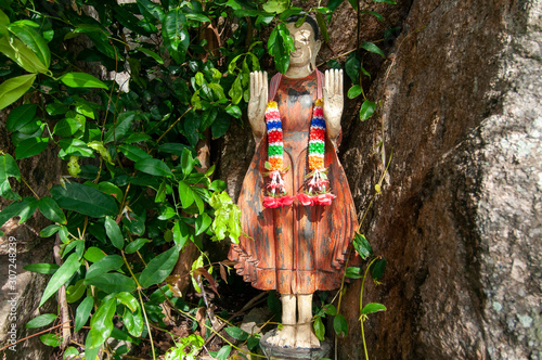
[[[335,143],[340,134],[340,117],[343,116],[343,70],[325,70],[324,80],[324,118],[327,128],[327,136]]]

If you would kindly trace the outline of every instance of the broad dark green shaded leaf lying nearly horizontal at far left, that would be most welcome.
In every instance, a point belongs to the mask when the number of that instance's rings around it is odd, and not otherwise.
[[[94,218],[106,215],[115,216],[118,213],[117,203],[111,195],[89,185],[72,182],[54,185],[51,195],[61,208],[74,210]]]

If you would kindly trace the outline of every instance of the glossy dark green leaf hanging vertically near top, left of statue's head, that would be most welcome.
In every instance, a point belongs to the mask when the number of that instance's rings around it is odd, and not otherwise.
[[[166,14],[162,24],[162,37],[164,44],[173,60],[181,64],[184,62],[186,50],[190,44],[190,35],[184,29],[186,18],[180,8],[176,8]]]

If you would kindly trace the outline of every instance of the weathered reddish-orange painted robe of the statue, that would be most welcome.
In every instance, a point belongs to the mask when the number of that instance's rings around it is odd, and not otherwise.
[[[323,76],[322,76],[323,77]],[[271,99],[270,99],[271,100]],[[307,147],[312,106],[317,100],[315,73],[302,79],[282,77],[274,100],[279,103],[284,139],[286,190],[295,196],[304,191],[308,169]],[[317,290],[340,287],[348,245],[358,221],[350,189],[335,147],[326,137],[325,167],[332,205],[263,206],[268,177],[262,176],[268,159],[267,137],[261,140],[245,176],[238,197],[243,232],[229,258],[244,280],[260,290],[280,294],[312,294]]]

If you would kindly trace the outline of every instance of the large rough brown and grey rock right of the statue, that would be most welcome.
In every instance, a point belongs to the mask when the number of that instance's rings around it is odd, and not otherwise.
[[[343,164],[388,260],[364,303],[372,359],[542,359],[542,4],[414,1]],[[339,358],[362,358],[359,283]]]

